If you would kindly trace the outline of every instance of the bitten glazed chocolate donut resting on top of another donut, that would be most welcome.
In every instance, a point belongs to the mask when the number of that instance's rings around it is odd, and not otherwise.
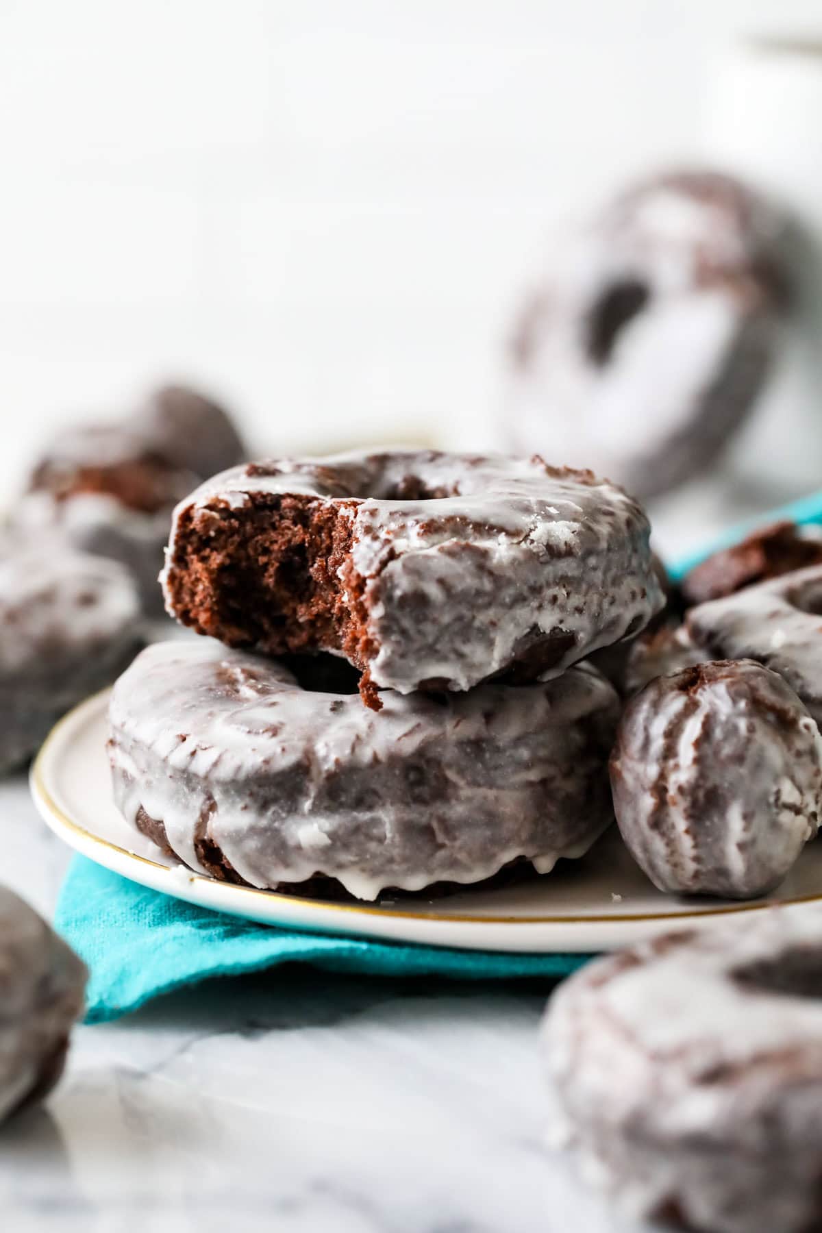
[[[176,509],[168,610],[232,646],[343,652],[373,687],[558,676],[662,607],[648,523],[588,471],[461,454],[253,464]]]

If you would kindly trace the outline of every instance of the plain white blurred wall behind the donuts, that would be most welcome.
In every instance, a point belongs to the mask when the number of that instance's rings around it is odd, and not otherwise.
[[[486,443],[551,222],[696,154],[723,51],[817,14],[0,0],[0,482],[175,375],[261,451]]]

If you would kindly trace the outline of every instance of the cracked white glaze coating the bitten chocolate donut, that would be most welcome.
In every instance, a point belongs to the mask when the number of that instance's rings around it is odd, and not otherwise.
[[[409,476],[449,494],[393,496]],[[288,493],[332,504],[350,524],[341,584],[362,586],[371,679],[401,693],[428,681],[471,689],[540,646],[551,646],[558,676],[663,604],[646,515],[614,485],[540,459],[397,451],[262,462],[202,485],[175,510],[171,615],[187,525],[222,508],[242,522],[255,501]]]

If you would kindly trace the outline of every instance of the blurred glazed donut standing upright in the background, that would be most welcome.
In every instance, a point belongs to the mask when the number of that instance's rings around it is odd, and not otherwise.
[[[649,497],[699,473],[763,385],[787,224],[730,176],[662,175],[557,244],[510,348],[505,444]]]

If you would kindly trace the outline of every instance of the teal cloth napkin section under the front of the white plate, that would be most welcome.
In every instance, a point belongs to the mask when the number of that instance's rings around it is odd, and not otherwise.
[[[89,1023],[118,1018],[208,977],[288,962],[380,977],[557,980],[589,958],[449,951],[255,925],[139,887],[81,856],[69,867],[54,924],[91,972]]]

